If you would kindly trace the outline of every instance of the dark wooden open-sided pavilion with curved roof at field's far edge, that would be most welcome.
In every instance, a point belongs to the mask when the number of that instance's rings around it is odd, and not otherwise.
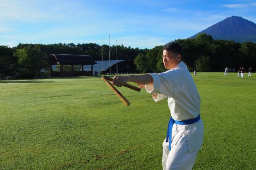
[[[95,58],[89,55],[51,54],[48,58],[51,65],[51,76],[93,75]],[[60,72],[53,71],[53,65],[60,65]],[[64,72],[63,66],[71,65],[71,72]],[[82,66],[81,72],[74,71],[74,65]],[[84,71],[83,65],[90,65],[91,71]]]

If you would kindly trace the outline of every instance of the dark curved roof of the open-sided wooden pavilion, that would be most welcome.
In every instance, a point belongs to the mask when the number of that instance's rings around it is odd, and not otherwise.
[[[94,65],[95,58],[89,55],[51,54],[50,65]]]

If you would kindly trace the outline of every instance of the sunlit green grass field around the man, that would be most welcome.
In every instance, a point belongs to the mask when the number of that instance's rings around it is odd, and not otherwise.
[[[198,73],[204,142],[194,170],[256,169],[256,75]],[[133,84],[135,85],[135,84]],[[170,111],[97,76],[0,81],[0,169],[161,170]]]

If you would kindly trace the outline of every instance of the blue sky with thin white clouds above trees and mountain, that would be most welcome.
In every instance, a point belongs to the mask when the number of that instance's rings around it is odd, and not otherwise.
[[[153,48],[227,17],[256,23],[255,0],[1,0],[0,45],[96,43]]]

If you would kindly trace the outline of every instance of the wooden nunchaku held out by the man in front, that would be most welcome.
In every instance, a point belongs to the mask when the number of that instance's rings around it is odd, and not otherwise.
[[[112,81],[113,79],[107,76],[101,76],[101,79],[107,84],[107,86],[119,97],[119,99],[125,104],[125,106],[129,106],[130,102],[123,96],[109,81]],[[108,81],[109,80],[109,81]],[[138,87],[135,87],[133,85],[124,84],[123,86],[128,87],[135,91],[140,91],[141,89]]]

